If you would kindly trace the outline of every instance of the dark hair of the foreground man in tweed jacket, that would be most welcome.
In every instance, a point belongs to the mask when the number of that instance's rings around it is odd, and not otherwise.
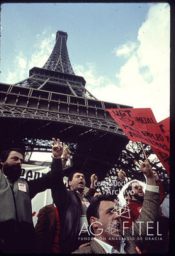
[[[91,225],[90,223],[91,217],[99,218],[100,201],[114,201],[114,198],[111,195],[108,196],[106,194],[102,194],[100,196],[95,196],[95,198],[92,199],[86,212],[88,225]]]

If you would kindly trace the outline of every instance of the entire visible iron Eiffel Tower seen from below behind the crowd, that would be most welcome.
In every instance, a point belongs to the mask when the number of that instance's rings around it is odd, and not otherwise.
[[[1,151],[8,147],[29,152],[51,151],[51,138],[60,138],[72,152],[72,170],[96,173],[99,181],[119,164],[128,138],[106,109],[130,108],[99,101],[75,75],[67,51],[67,33],[56,32],[56,43],[43,68],[15,84],[0,83]],[[42,164],[40,159],[36,164]],[[78,169],[77,169],[78,168]],[[69,169],[69,170],[68,170]],[[87,185],[89,185],[87,183]]]

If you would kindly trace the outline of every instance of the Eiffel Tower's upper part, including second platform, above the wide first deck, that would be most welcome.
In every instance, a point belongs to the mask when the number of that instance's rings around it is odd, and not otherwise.
[[[75,75],[67,51],[67,32],[56,32],[56,43],[43,68],[29,70],[29,77],[14,85],[76,97],[96,99],[86,88],[84,77]]]

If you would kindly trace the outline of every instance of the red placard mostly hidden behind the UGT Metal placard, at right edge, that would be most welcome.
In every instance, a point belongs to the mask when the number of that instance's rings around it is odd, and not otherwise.
[[[165,138],[167,142],[170,143],[170,118],[166,118],[165,120],[158,123],[161,131],[165,134]],[[160,151],[157,148],[152,147],[152,150],[157,155],[157,158],[163,164],[167,173],[170,173],[170,157],[167,153]]]

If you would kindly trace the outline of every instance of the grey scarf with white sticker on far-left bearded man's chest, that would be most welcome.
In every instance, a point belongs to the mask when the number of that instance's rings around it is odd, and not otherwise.
[[[11,188],[0,170],[0,223],[7,220],[32,223],[32,207],[27,182],[19,178]]]

